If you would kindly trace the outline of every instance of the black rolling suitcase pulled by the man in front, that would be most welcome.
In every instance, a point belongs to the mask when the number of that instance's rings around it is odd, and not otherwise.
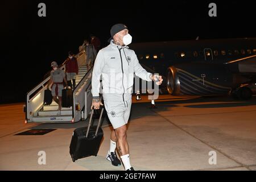
[[[104,108],[101,109],[100,119],[98,120],[97,127],[92,126],[92,114],[90,114],[90,120],[88,127],[80,127],[75,129],[69,146],[69,154],[71,155],[72,161],[75,162],[77,159],[86,158],[88,156],[97,156],[98,150],[100,149],[101,140],[103,137],[103,130],[100,127],[102,113]]]

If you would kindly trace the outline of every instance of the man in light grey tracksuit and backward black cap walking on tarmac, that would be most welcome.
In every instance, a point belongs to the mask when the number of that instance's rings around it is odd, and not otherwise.
[[[126,124],[131,110],[131,90],[134,73],[146,81],[162,84],[162,76],[148,73],[142,68],[135,52],[127,47],[131,43],[131,35],[124,24],[115,24],[110,30],[109,46],[101,49],[96,57],[92,75],[92,106],[100,109],[100,76],[102,75],[102,94],[108,117],[113,126],[110,135],[110,149],[106,156],[114,166],[120,166],[115,148],[121,157],[126,171],[134,171],[129,158]]]

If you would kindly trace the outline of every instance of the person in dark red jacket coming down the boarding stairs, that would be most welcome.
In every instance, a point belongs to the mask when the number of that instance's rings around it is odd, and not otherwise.
[[[76,87],[76,75],[79,72],[79,67],[77,64],[76,57],[73,56],[73,52],[68,52],[68,59],[67,63],[65,64],[65,69],[67,73],[67,80],[68,80],[68,86],[70,86],[72,89],[75,89]],[[72,85],[72,82],[73,85]]]

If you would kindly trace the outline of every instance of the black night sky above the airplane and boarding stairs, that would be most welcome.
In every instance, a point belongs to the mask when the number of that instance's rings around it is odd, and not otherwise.
[[[38,4],[46,3],[46,17]],[[209,3],[217,17],[209,17]],[[133,42],[256,37],[254,1],[1,1],[0,104],[24,102],[51,61],[78,52],[89,34],[107,46],[110,28],[124,23]]]

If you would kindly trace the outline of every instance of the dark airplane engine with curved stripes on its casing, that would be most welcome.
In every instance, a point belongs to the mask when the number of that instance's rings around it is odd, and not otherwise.
[[[247,81],[222,64],[179,64],[167,69],[167,90],[174,96],[229,94]]]

